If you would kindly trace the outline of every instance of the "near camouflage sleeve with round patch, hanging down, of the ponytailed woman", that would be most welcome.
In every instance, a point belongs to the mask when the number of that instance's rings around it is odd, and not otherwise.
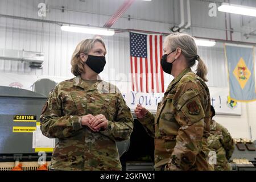
[[[184,92],[174,96],[176,108],[175,119],[180,125],[176,137],[176,145],[171,154],[167,170],[188,170],[196,162],[202,146],[204,133],[204,105],[193,84],[183,84]]]

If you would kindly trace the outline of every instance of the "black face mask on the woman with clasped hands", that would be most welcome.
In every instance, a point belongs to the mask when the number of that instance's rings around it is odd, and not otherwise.
[[[85,64],[88,65],[90,69],[92,69],[96,73],[100,73],[103,71],[105,64],[106,64],[106,59],[105,56],[92,56],[88,55],[88,58],[85,62]]]

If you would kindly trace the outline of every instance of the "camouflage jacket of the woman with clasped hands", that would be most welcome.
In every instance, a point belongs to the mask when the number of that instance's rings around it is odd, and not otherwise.
[[[93,132],[81,125],[82,115],[105,115],[108,128]],[[88,84],[77,76],[60,82],[49,94],[40,129],[58,138],[50,168],[60,170],[121,170],[115,141],[130,138],[133,116],[118,88],[105,81]]]

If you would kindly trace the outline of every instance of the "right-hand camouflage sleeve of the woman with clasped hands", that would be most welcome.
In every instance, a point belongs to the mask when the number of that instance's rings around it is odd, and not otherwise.
[[[129,139],[133,131],[134,120],[130,108],[123,100],[122,94],[118,94],[116,115],[115,121],[108,121],[107,129],[101,131],[101,133],[114,141]]]

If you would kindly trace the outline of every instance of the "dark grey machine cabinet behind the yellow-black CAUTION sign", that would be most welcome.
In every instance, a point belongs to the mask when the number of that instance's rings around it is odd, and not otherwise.
[[[35,155],[32,148],[32,132],[15,133],[13,127],[36,127],[36,122],[14,122],[14,115],[35,115],[39,122],[40,113],[47,97],[30,90],[0,86],[0,156],[15,154]],[[1,158],[0,158],[1,159]]]

